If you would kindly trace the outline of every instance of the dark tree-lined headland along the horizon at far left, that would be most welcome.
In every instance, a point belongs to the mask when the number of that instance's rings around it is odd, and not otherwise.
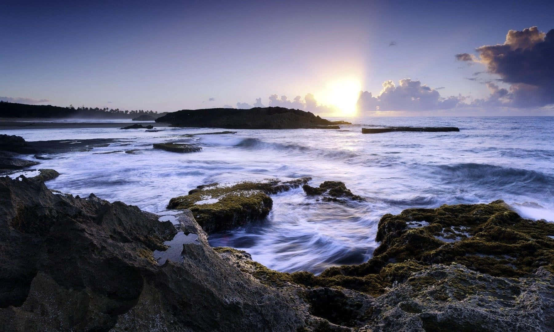
[[[0,100],[0,118],[93,118],[93,119],[130,119],[141,115],[158,118],[167,112],[158,113],[152,110],[120,110],[108,108],[74,108],[52,105],[28,105],[9,103]]]

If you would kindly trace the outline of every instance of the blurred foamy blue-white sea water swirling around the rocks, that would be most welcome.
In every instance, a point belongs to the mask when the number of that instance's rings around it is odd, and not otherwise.
[[[311,176],[312,186],[338,180],[366,202],[315,201],[301,188],[273,196],[264,221],[213,234],[213,246],[243,249],[281,271],[321,270],[371,257],[379,218],[409,207],[510,203],[525,217],[554,219],[554,118],[357,118],[340,130],[162,131],[94,129],[8,130],[27,141],[114,138],[89,152],[50,155],[40,168],[61,175],[50,188],[95,195],[143,210],[165,210],[170,198],[212,182]],[[361,134],[370,126],[458,126],[460,132]],[[225,129],[228,130],[228,129]],[[156,142],[194,142],[202,152],[152,149]],[[140,150],[126,154],[125,150]],[[113,154],[100,152],[122,151]],[[35,167],[35,168],[38,168]]]

